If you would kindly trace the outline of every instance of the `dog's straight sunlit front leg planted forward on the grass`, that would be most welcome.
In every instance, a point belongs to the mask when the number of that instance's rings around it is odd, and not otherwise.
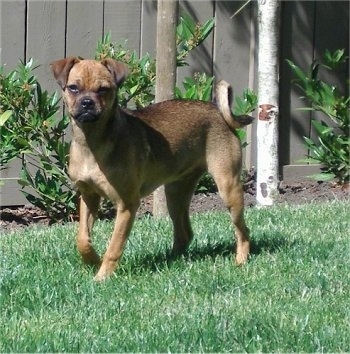
[[[132,228],[139,201],[126,206],[118,206],[117,218],[111,241],[107,248],[101,268],[95,276],[96,281],[101,281],[110,276],[118,265],[122,256],[127,238]]]

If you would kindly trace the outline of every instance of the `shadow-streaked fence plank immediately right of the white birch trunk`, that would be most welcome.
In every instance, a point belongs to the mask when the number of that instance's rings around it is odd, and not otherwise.
[[[307,154],[303,136],[310,134],[310,113],[300,111],[306,101],[292,80],[294,76],[285,59],[306,70],[313,60],[315,2],[286,1],[281,18],[280,65],[280,164],[284,176],[297,173],[296,165]],[[292,166],[291,166],[292,165]],[[301,167],[303,168],[303,167]]]

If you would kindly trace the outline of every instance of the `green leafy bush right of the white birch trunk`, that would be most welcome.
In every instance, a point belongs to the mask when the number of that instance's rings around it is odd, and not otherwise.
[[[333,71],[346,60],[343,49],[333,53],[326,51],[325,63],[313,63],[308,73],[292,61],[287,61],[297,76],[298,87],[311,103],[311,108],[304,109],[322,112],[327,117],[322,121],[312,120],[317,134],[316,141],[304,137],[310,150],[307,161],[322,164],[321,175],[314,177],[319,180],[336,178],[341,184],[349,183],[350,180],[350,97],[342,96],[336,86],[319,79],[318,75],[321,68]]]

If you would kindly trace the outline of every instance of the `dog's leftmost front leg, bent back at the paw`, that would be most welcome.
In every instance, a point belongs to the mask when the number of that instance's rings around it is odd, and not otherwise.
[[[80,199],[80,222],[77,247],[85,263],[98,265],[100,257],[92,247],[91,231],[97,215],[100,197],[98,194],[83,194]]]

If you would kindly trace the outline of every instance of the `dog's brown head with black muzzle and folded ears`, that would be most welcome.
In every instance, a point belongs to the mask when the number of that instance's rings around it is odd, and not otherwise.
[[[79,123],[95,122],[114,108],[116,89],[126,79],[125,64],[104,59],[69,57],[51,63],[70,116]]]

